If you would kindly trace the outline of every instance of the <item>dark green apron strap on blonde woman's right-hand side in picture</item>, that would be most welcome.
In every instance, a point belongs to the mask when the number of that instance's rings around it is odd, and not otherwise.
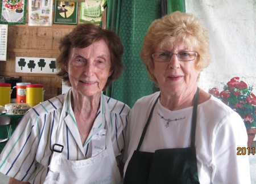
[[[191,127],[191,148],[195,148],[195,140],[196,140],[196,115],[197,115],[197,104],[199,97],[199,87],[197,87],[196,95],[194,99],[193,105],[193,115],[192,115],[192,127]]]

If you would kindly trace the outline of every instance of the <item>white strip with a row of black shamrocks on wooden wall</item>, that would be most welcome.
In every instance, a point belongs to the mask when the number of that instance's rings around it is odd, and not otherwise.
[[[56,58],[16,57],[15,72],[55,74]]]

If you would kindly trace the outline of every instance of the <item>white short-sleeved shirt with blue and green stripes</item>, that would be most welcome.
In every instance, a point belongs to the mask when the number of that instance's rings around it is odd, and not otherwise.
[[[123,102],[101,95],[108,102],[110,112],[105,112],[101,99],[100,108],[93,127],[104,129],[102,113],[110,113],[112,143],[115,156],[125,146],[123,130],[127,124],[130,108]],[[81,143],[75,115],[71,106],[71,90],[66,95],[54,97],[51,100],[34,106],[24,115],[11,139],[6,144],[0,156],[0,172],[20,181],[43,183],[47,175],[47,167],[52,156],[52,147],[56,142],[57,126],[63,103],[67,109],[63,129],[63,153],[61,157],[68,160],[84,160],[92,157],[92,130],[84,145]],[[66,121],[68,119],[68,121]]]

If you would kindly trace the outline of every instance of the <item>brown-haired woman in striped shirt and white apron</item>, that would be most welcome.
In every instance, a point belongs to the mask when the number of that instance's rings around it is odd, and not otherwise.
[[[116,157],[130,108],[102,90],[121,75],[122,54],[119,37],[93,24],[63,37],[57,75],[72,88],[24,115],[0,157],[11,183],[121,181]]]

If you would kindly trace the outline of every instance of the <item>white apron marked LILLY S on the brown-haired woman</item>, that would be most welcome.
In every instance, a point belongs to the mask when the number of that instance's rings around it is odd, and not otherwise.
[[[54,147],[51,162],[48,166],[49,172],[44,181],[44,184],[63,184],[63,183],[86,183],[86,184],[117,184],[121,182],[121,176],[115,160],[113,144],[109,131],[110,113],[108,104],[103,95],[103,104],[105,113],[102,113],[102,121],[105,121],[106,135],[106,149],[100,152],[98,155],[90,157],[85,160],[67,160],[61,158],[61,152],[63,149],[63,126],[65,118],[65,104],[60,114],[60,119],[57,130],[57,141]],[[96,128],[97,129],[97,128]],[[104,132],[104,131],[103,131]],[[57,152],[59,151],[59,152]]]

